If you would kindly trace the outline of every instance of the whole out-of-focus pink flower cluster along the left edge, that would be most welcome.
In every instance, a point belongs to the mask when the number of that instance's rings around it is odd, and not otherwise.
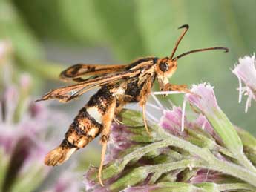
[[[10,45],[0,42],[0,191],[35,191],[47,179],[56,183],[45,186],[45,191],[79,191],[71,168],[53,178],[51,168],[44,165],[54,142],[50,128],[61,126],[65,115],[34,102],[27,74],[13,82],[9,52]]]

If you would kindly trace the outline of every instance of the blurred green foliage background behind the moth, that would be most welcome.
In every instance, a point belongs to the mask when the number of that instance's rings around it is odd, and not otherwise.
[[[229,47],[230,51],[195,53],[180,59],[170,82],[188,86],[210,82],[229,119],[256,135],[256,104],[252,102],[244,113],[246,97],[238,104],[238,81],[231,72],[239,57],[255,52],[255,8],[255,0],[1,0],[0,41],[7,42],[11,59],[1,62],[0,69],[10,64],[13,82],[27,73],[33,84],[31,94],[37,99],[65,85],[58,79],[59,72],[71,64],[128,64],[143,56],[169,56],[181,32],[177,28],[189,24],[177,54],[213,46]],[[63,120],[66,126],[56,128],[56,138],[62,138],[89,95],[65,105],[50,102],[67,115]],[[170,98],[180,105],[183,96]],[[97,165],[98,149],[93,150],[93,159],[88,158],[93,146],[83,150],[82,156],[86,163]]]

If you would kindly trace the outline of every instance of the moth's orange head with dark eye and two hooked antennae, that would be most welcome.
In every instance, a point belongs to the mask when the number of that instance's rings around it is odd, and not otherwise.
[[[186,56],[191,53],[197,53],[202,52],[206,50],[225,50],[225,52],[229,52],[229,49],[226,47],[209,47],[209,48],[203,48],[203,49],[197,49],[197,50],[190,50],[186,53],[182,53],[179,56],[175,56],[174,54],[177,50],[177,47],[179,46],[181,40],[183,39],[183,36],[185,36],[186,32],[188,31],[188,24],[184,24],[183,26],[179,27],[179,29],[183,28],[183,32],[181,33],[179,39],[177,39],[177,42],[174,46],[174,49],[171,52],[171,56],[165,57],[163,59],[158,59],[157,66],[156,66],[156,73],[157,73],[157,79],[160,83],[160,89],[165,90],[165,85],[168,84],[168,78],[170,78],[175,71],[177,70],[177,61],[183,56]]]

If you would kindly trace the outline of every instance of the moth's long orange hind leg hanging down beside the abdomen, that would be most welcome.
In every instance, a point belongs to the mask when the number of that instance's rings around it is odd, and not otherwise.
[[[116,99],[113,99],[110,102],[111,104],[108,106],[108,109],[105,111],[105,114],[102,116],[103,130],[102,130],[102,136],[100,138],[100,142],[102,144],[102,155],[101,155],[99,172],[98,172],[99,183],[102,186],[104,186],[102,182],[102,168],[104,165],[105,153],[107,150],[107,144],[108,144],[108,139],[109,139],[110,130],[111,130],[111,123],[114,119]]]

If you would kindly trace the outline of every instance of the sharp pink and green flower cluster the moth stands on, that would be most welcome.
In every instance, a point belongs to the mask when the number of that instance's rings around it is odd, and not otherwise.
[[[189,118],[181,107],[160,110],[163,116],[157,125],[151,124],[151,136],[141,113],[122,111],[123,125],[112,126],[104,187],[96,178],[97,168],[91,167],[85,175],[86,190],[255,190],[256,151],[251,144],[256,139],[234,128],[218,106],[213,87],[194,85],[191,92],[185,96],[192,109]],[[246,157],[245,150],[254,155]]]

